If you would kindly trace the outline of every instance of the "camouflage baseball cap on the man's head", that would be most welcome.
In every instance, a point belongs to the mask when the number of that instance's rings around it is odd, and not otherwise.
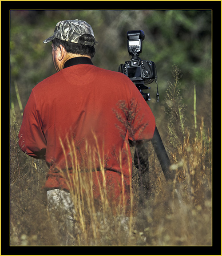
[[[56,24],[56,28],[52,37],[47,38],[43,41],[47,44],[55,38],[62,41],[78,44],[79,37],[84,34],[90,34],[94,37],[93,30],[86,21],[84,20],[61,20]],[[85,45],[95,45],[97,42],[85,42]]]

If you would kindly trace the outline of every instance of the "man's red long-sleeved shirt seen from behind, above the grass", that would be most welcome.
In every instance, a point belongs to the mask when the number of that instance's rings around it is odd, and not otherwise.
[[[71,177],[79,170],[81,179],[91,175],[95,197],[105,184],[107,195],[117,200],[123,187],[125,198],[129,197],[129,139],[151,139],[154,130],[151,109],[127,76],[79,64],[32,89],[19,145],[26,154],[46,160],[46,189],[75,190]]]

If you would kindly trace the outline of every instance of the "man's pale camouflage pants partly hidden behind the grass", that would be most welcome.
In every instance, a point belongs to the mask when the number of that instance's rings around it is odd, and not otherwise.
[[[52,227],[56,238],[58,238],[58,245],[77,245],[76,236],[81,234],[79,225],[76,223],[75,206],[71,200],[70,193],[53,189],[47,191],[48,211],[52,220]],[[77,209],[76,209],[77,210]],[[112,233],[113,220],[103,217],[103,213],[96,212],[96,219],[99,223],[99,232],[101,234]],[[128,217],[115,216],[115,223],[119,223],[121,229],[124,230],[126,236],[128,235]],[[115,233],[113,236],[116,236]],[[106,245],[106,241],[101,238],[101,243]]]

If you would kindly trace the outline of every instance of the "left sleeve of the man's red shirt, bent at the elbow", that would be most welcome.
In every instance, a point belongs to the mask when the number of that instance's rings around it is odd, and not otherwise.
[[[23,114],[19,146],[26,154],[34,158],[45,159],[47,141],[42,128],[43,124],[32,91]]]

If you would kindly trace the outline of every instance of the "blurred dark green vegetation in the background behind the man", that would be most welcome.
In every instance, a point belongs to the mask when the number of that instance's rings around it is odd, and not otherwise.
[[[156,103],[156,85],[151,84],[151,106],[157,126],[166,118],[165,94],[172,79],[172,65],[181,70],[182,101],[186,117],[194,123],[193,100],[196,86],[197,113],[205,124],[211,119],[211,10],[15,10],[10,12],[11,104],[19,110],[26,105],[32,88],[55,73],[51,43],[44,39],[54,33],[60,20],[79,19],[91,24],[96,54],[93,63],[104,69],[118,71],[130,60],[127,51],[127,31],[141,29],[145,33],[142,60],[154,61],[157,66],[160,102]],[[121,85],[119,85],[121,90]],[[163,131],[164,132],[164,131]]]

